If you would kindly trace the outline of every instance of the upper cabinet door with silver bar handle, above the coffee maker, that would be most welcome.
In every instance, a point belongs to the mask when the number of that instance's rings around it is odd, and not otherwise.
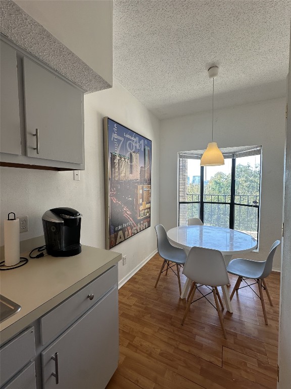
[[[26,57],[23,78],[28,157],[81,164],[83,93]]]

